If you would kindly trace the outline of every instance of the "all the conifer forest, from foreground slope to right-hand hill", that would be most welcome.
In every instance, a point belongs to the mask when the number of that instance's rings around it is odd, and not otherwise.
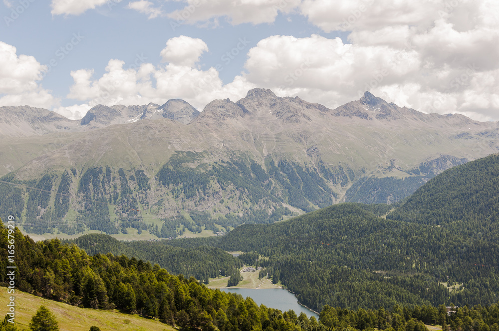
[[[16,231],[19,289],[181,330],[496,331],[498,180],[493,155],[445,171],[398,205],[343,203],[223,237],[35,243]],[[259,256],[268,277],[320,311],[319,321],[202,284]]]

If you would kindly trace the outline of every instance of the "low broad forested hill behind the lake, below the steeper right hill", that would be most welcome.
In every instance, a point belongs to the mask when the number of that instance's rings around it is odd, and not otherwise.
[[[367,211],[384,214],[388,208],[340,204],[286,222],[242,225],[213,244],[269,256],[282,283],[315,309],[496,302],[499,277],[490,266],[498,265],[497,239],[471,239],[453,228]],[[464,290],[449,292],[439,284],[448,280],[464,283]]]

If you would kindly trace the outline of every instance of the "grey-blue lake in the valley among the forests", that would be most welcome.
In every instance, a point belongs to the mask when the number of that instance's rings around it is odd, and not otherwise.
[[[306,309],[298,304],[296,297],[284,289],[220,289],[221,291],[238,293],[244,298],[251,297],[253,301],[259,306],[261,304],[286,312],[290,309],[294,310],[296,315],[301,312],[305,313],[309,318],[311,316],[316,319],[319,318],[317,314],[311,310]]]

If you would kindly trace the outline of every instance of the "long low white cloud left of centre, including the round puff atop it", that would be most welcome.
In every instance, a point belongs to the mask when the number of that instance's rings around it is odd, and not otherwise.
[[[179,45],[181,49],[176,49]],[[195,68],[201,53],[208,50],[201,39],[173,38],[167,42],[165,50],[161,55],[169,62],[166,65],[126,66],[121,60],[111,59],[101,77],[94,78],[94,71],[89,69],[72,71],[74,84],[67,97],[84,101],[78,108],[81,110],[97,104],[162,104],[173,98],[184,99],[202,110],[213,99],[238,100],[255,87],[243,76],[236,76],[233,82],[224,84],[216,68]]]

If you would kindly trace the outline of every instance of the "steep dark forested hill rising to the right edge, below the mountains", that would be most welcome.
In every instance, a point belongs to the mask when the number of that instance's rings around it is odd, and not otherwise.
[[[495,154],[444,171],[387,217],[431,225],[466,222],[472,233],[492,239],[499,221],[498,196],[499,155]]]

